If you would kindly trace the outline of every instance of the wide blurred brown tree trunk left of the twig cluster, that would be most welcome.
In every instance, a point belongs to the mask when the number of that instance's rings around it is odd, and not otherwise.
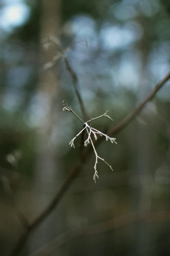
[[[49,36],[57,36],[60,28],[60,8],[61,0],[43,0],[41,1],[41,28],[40,28],[40,40],[48,38]],[[40,45],[42,48],[42,46]],[[56,46],[52,45],[47,51],[44,51],[41,63],[48,63],[55,56]],[[60,163],[56,157],[54,146],[52,145],[51,135],[54,129],[57,129],[56,116],[58,113],[57,101],[59,90],[59,65],[55,66],[55,72],[53,70],[40,72],[39,76],[39,88],[38,98],[39,106],[43,109],[43,116],[41,124],[37,129],[37,156],[35,163],[35,191],[43,191],[43,188],[50,182],[51,191],[55,191],[54,187],[56,174],[60,172]],[[41,182],[38,182],[41,180]],[[37,216],[51,201],[53,195],[34,195],[34,213],[33,218]],[[55,215],[56,218],[56,215]],[[55,221],[58,229],[59,221]],[[30,252],[36,248],[43,246],[53,237],[54,231],[54,215],[50,215],[47,220],[42,223],[41,227],[35,230],[30,244]]]

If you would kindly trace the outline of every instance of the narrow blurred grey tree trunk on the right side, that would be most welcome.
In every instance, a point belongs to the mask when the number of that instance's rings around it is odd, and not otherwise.
[[[148,92],[150,91],[149,80],[148,78],[148,56],[151,47],[150,38],[147,31],[147,19],[143,16],[138,18],[138,23],[144,28],[143,37],[138,43],[138,50],[141,54],[141,74],[139,79],[138,87],[138,100],[143,99]],[[151,154],[151,140],[150,132],[147,123],[148,113],[144,110],[139,114],[138,127],[137,127],[137,136],[138,141],[136,147],[138,148],[137,156],[137,175],[140,181],[139,187],[139,198],[136,205],[139,207],[139,212],[141,215],[149,214],[151,207],[151,185],[150,185],[150,159]],[[151,248],[151,239],[150,239],[150,229],[149,225],[145,224],[143,221],[137,223],[137,255],[150,255]]]

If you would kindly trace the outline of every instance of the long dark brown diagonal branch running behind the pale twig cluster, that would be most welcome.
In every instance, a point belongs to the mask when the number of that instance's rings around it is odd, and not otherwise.
[[[159,82],[156,84],[154,89],[146,96],[146,98],[141,101],[138,106],[129,113],[117,126],[111,128],[108,132],[108,134],[115,135],[116,133],[120,132],[124,127],[126,127],[134,118],[135,116],[143,109],[145,104],[149,102],[153,98],[153,96],[158,92],[158,90],[165,84],[166,81],[170,79],[170,71],[168,74]],[[96,145],[102,142],[101,137],[99,140],[97,140]],[[11,256],[17,256],[19,252],[21,251],[21,248],[23,247],[25,241],[27,240],[29,234],[31,231],[33,231],[37,226],[39,226],[44,219],[55,209],[55,207],[58,205],[58,203],[61,201],[61,199],[64,196],[64,193],[67,191],[67,189],[72,184],[72,181],[76,179],[78,176],[82,164],[87,160],[87,157],[90,155],[92,151],[92,146],[87,148],[87,150],[83,153],[82,158],[78,162],[78,164],[75,166],[75,168],[72,170],[72,172],[67,176],[66,180],[64,181],[64,184],[61,186],[60,190],[56,193],[56,196],[54,196],[51,203],[47,206],[47,208],[30,224],[28,230],[21,235],[19,238],[18,243],[16,244],[16,247],[14,248]]]

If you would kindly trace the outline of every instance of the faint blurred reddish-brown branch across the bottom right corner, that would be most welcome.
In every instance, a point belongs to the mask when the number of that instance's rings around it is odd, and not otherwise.
[[[170,220],[170,212],[155,212],[141,214],[140,212],[127,213],[114,219],[85,227],[73,228],[59,235],[47,245],[39,248],[30,256],[47,256],[57,248],[65,245],[80,236],[90,236],[115,230],[131,223],[144,221],[145,223],[163,222]]]

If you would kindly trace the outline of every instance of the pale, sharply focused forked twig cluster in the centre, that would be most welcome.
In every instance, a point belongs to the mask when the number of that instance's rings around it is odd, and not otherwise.
[[[97,134],[99,134],[100,136],[104,136],[104,137],[106,138],[106,141],[109,140],[111,143],[116,143],[116,142],[115,142],[115,140],[116,140],[115,138],[111,138],[111,137],[109,137],[107,134],[104,134],[103,132],[101,132],[101,131],[99,131],[99,130],[97,130],[97,129],[91,127],[92,121],[95,120],[95,119],[97,119],[97,118],[100,118],[100,117],[102,117],[102,116],[106,116],[106,117],[110,118],[110,116],[107,115],[107,112],[108,112],[108,111],[106,111],[106,113],[104,113],[103,115],[100,115],[100,116],[98,116],[98,117],[92,118],[92,119],[90,119],[90,120],[87,121],[87,122],[83,122],[83,121],[81,120],[81,118],[72,110],[71,106],[69,107],[68,104],[67,104],[65,101],[63,101],[63,102],[64,102],[63,111],[65,110],[65,111],[70,111],[70,112],[72,112],[72,113],[82,122],[82,124],[84,125],[84,128],[70,141],[69,145],[71,145],[71,147],[74,147],[74,148],[75,148],[75,145],[74,145],[75,139],[76,139],[85,129],[86,129],[86,131],[87,131],[87,133],[88,133],[88,138],[87,138],[87,140],[85,140],[84,146],[87,147],[88,144],[92,144],[92,147],[93,147],[93,150],[94,150],[94,154],[95,154],[95,156],[96,156],[96,161],[95,161],[95,164],[94,164],[94,176],[93,176],[93,179],[94,179],[94,181],[96,182],[96,177],[99,178],[99,177],[98,177],[98,172],[97,172],[97,169],[96,169],[96,166],[97,166],[97,159],[101,159],[102,161],[104,161],[104,162],[110,167],[110,169],[113,171],[111,165],[109,165],[103,158],[101,158],[101,157],[99,157],[99,156],[97,155],[96,149],[95,149],[95,147],[94,147],[94,144],[93,144],[92,138],[91,138],[91,135],[93,135],[93,136],[94,136],[94,139],[97,140]],[[110,119],[111,119],[111,118],[110,118]],[[111,119],[111,120],[112,120],[112,119]],[[91,122],[90,126],[88,125],[89,122]],[[116,143],[116,144],[117,144],[117,143]]]

